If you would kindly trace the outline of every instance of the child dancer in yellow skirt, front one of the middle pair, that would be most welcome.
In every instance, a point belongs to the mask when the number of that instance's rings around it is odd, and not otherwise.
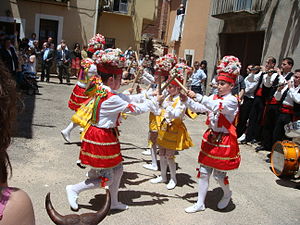
[[[182,78],[177,79],[183,82]],[[156,114],[159,113],[161,117],[157,138],[161,175],[151,179],[150,182],[153,184],[167,182],[167,167],[169,166],[171,179],[167,184],[167,189],[172,190],[177,184],[175,153],[188,149],[193,146],[193,143],[183,122],[186,106],[180,100],[180,86],[173,80],[167,89],[169,95],[166,98],[158,96],[161,108],[156,111]]]

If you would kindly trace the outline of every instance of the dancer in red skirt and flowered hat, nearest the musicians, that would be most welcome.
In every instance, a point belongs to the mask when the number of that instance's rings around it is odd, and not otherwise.
[[[187,213],[205,210],[205,197],[210,175],[221,186],[224,194],[217,207],[224,209],[230,202],[232,192],[226,172],[237,169],[240,164],[240,153],[237,135],[233,125],[238,112],[237,98],[231,94],[235,79],[239,75],[241,64],[234,56],[225,56],[217,67],[218,94],[209,97],[188,92],[186,105],[194,112],[208,112],[206,124],[208,130],[203,135],[198,157],[199,191],[197,203],[185,209]]]

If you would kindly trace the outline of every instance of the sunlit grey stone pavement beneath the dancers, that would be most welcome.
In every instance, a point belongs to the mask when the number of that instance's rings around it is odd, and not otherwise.
[[[41,95],[25,97],[26,108],[19,116],[19,130],[9,151],[13,166],[9,184],[30,195],[38,225],[53,224],[44,208],[48,192],[61,214],[73,213],[67,203],[65,186],[82,181],[87,172],[75,164],[79,130],[73,131],[72,144],[66,144],[60,135],[72,116],[67,101],[73,86],[59,85],[57,79],[52,80],[52,83],[40,83]],[[195,121],[186,119],[195,146],[177,156],[178,186],[169,191],[165,184],[150,183],[159,172],[142,167],[150,161],[149,156],[141,154],[147,146],[148,115],[129,116],[124,120],[120,138],[124,176],[119,196],[130,208],[111,212],[101,224],[300,224],[299,180],[278,179],[265,162],[267,153],[255,153],[253,146],[245,145],[241,146],[240,168],[229,173],[233,196],[228,208],[217,210],[222,190],[212,178],[207,209],[192,215],[184,212],[197,198],[195,168],[201,136],[206,129],[204,121],[202,115]],[[79,213],[99,209],[103,198],[101,189],[81,193]]]

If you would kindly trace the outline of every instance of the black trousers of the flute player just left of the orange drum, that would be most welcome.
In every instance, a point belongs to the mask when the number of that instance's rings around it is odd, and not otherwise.
[[[275,124],[279,116],[280,105],[266,105],[265,119],[263,121],[262,127],[262,146],[268,150],[272,150],[273,146],[273,132],[275,129]]]

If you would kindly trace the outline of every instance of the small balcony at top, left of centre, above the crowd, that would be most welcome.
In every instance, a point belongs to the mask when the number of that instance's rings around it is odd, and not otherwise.
[[[111,12],[130,16],[132,14],[129,0],[104,0],[102,2],[104,12]]]

